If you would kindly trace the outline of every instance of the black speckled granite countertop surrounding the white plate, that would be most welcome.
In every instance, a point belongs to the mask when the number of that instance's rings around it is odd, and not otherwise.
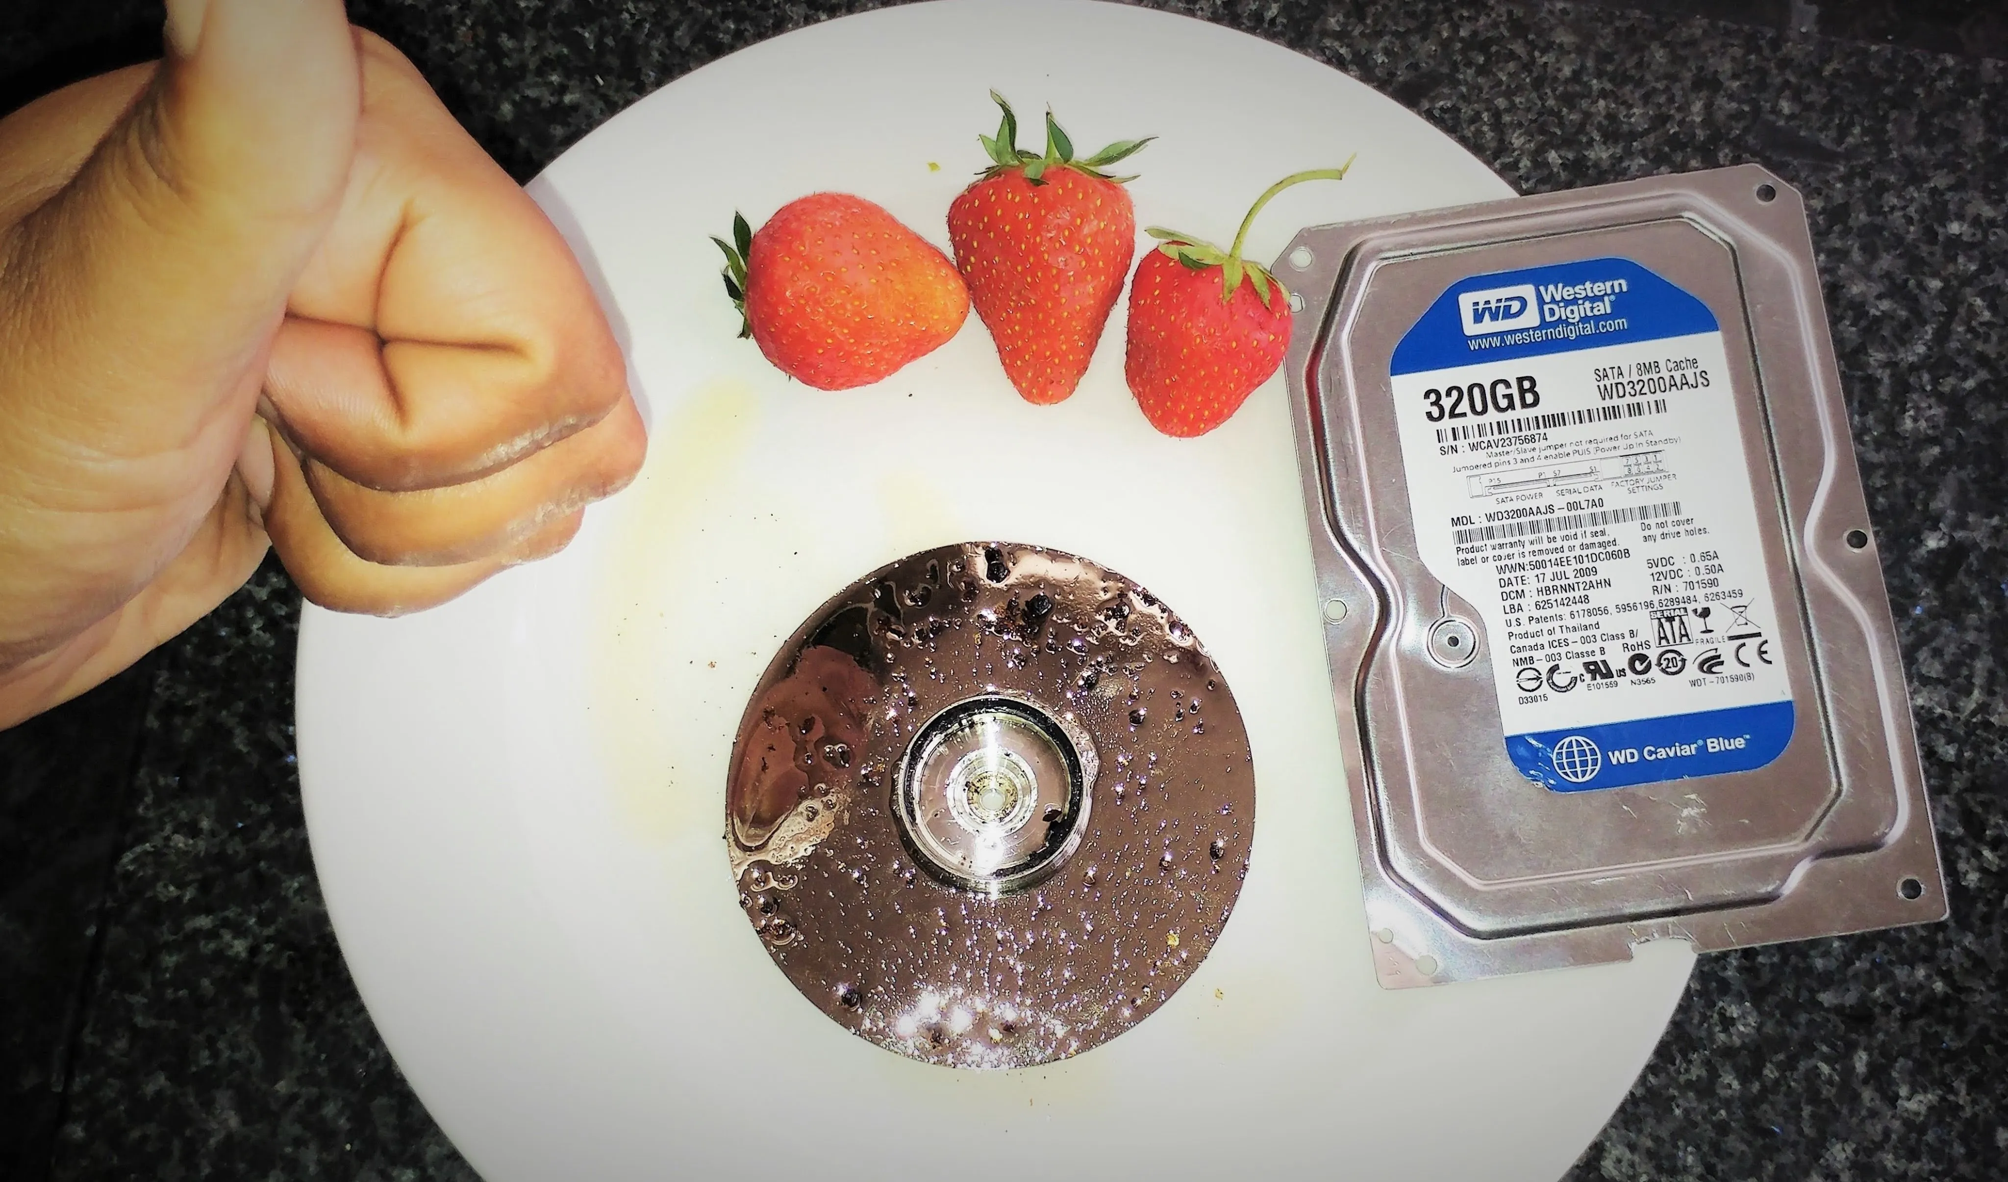
[[[355,0],[526,179],[755,40],[867,8]],[[1520,191],[1759,161],[1801,189],[1952,921],[1703,957],[1572,1178],[1994,1180],[2008,1162],[2008,20],[1988,2],[1165,0],[1420,110]],[[139,0],[0,12],[0,104],[151,54]],[[472,1178],[321,907],[299,596],[265,570],[0,734],[0,1180]]]

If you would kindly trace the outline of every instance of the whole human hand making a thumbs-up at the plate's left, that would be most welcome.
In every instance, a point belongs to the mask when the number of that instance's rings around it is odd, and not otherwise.
[[[0,726],[257,568],[438,604],[645,437],[562,239],[339,0],[169,0],[167,58],[0,120]]]

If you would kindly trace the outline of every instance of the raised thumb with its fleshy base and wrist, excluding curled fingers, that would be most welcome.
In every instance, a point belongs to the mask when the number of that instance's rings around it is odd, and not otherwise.
[[[0,120],[0,680],[118,668],[265,546],[231,468],[347,183],[355,40],[341,0],[167,8],[137,96],[110,74]]]

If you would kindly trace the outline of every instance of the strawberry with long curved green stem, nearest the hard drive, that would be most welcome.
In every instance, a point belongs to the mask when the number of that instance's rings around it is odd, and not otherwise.
[[[1345,167],[1297,173],[1271,185],[1241,219],[1235,245],[1225,253],[1177,231],[1147,231],[1163,245],[1145,253],[1131,281],[1122,375],[1153,427],[1167,435],[1205,435],[1233,417],[1283,363],[1289,293],[1275,275],[1241,257],[1241,243],[1271,197],[1299,181],[1339,181]]]

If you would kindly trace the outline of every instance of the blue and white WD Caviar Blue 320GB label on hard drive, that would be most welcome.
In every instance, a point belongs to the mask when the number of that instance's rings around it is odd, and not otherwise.
[[[1705,303],[1626,259],[1476,275],[1402,337],[1392,379],[1420,558],[1484,616],[1528,779],[1777,759],[1791,690]]]

